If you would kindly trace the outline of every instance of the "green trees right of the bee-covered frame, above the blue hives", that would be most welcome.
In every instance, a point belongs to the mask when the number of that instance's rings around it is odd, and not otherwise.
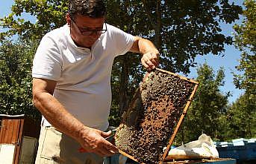
[[[219,91],[224,85],[223,69],[215,75],[213,69],[204,64],[197,73],[199,88],[176,137],[176,143],[197,140],[202,133],[215,141],[256,137],[256,96],[246,92],[232,105],[228,105],[230,94]]]

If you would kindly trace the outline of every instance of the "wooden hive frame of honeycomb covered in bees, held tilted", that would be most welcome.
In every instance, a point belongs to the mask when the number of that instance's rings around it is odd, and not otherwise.
[[[158,68],[146,74],[116,131],[119,152],[138,163],[163,163],[198,84]]]

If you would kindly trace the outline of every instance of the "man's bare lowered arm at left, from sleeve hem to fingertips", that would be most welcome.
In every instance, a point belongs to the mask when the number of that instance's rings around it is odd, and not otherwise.
[[[34,104],[51,125],[77,140],[87,152],[101,156],[118,152],[113,144],[104,139],[110,136],[110,131],[106,133],[84,126],[52,96],[56,84],[57,82],[49,79],[33,79]]]

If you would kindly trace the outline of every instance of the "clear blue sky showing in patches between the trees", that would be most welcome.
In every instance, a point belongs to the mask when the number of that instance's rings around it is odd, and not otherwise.
[[[243,0],[230,0],[230,2],[234,2],[234,4],[238,4],[240,6],[243,5]],[[13,0],[0,0],[0,18],[7,16],[8,13],[10,13],[10,7],[12,4]],[[25,20],[31,20],[31,22],[36,21],[36,19],[29,14],[23,14],[22,18]],[[225,34],[225,36],[231,36],[234,33],[232,28],[233,25],[240,24],[241,22],[242,21],[240,19],[233,24],[221,24],[222,33]],[[0,29],[0,32],[1,31],[2,30]],[[240,51],[237,50],[234,45],[225,45],[225,52],[223,52],[222,55],[223,56],[213,56],[212,54],[207,54],[206,56],[197,56],[196,62],[198,63],[198,66],[207,62],[207,64],[213,68],[215,73],[221,67],[225,69],[225,85],[221,87],[221,91],[223,94],[227,93],[228,91],[231,92],[232,96],[228,99],[228,101],[231,103],[234,102],[241,94],[243,94],[243,91],[235,88],[233,84],[233,75],[231,73],[238,73],[235,66],[239,65],[238,59],[240,59]],[[196,79],[196,68],[191,68],[191,73],[187,77],[190,79]]]

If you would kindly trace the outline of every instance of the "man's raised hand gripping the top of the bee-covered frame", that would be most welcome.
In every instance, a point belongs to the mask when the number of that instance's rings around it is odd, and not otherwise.
[[[141,58],[143,66],[147,70],[153,70],[159,65],[159,52],[158,50],[152,50],[143,54]]]

